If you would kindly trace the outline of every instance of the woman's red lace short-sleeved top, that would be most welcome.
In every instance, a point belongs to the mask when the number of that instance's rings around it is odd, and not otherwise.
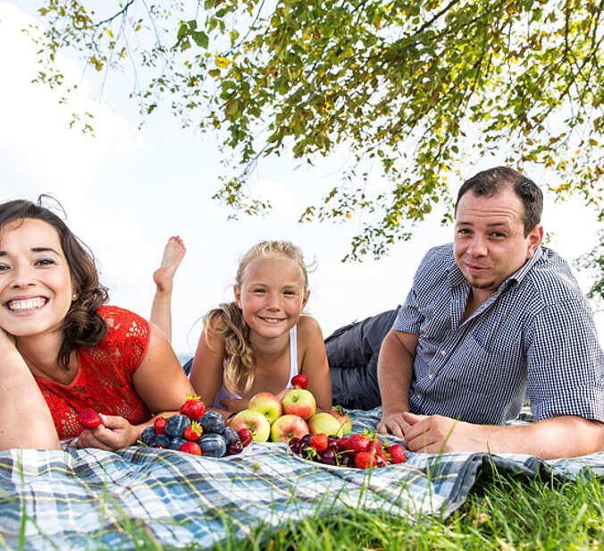
[[[59,438],[80,434],[76,417],[85,408],[119,415],[132,425],[151,417],[132,385],[132,374],[147,352],[147,320],[116,306],[101,306],[98,313],[105,319],[107,335],[93,347],[78,349],[78,373],[71,384],[36,377]]]

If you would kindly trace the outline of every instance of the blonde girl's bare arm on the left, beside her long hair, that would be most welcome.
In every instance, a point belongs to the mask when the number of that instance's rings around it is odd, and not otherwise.
[[[214,399],[222,385],[222,360],[224,360],[224,337],[213,333],[206,338],[205,328],[199,337],[197,351],[191,365],[191,385],[206,408],[214,407]],[[222,413],[222,411],[221,411]]]

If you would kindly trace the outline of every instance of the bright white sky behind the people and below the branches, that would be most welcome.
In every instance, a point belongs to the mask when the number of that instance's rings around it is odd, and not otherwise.
[[[39,69],[37,47],[22,29],[44,24],[35,17],[38,5],[0,1],[0,201],[36,200],[41,193],[58,199],[71,230],[94,252],[110,302],[145,318],[165,242],[180,235],[187,254],[172,295],[172,345],[181,355],[195,352],[204,313],[232,300],[238,261],[256,242],[289,240],[315,265],[306,309],[329,335],[404,301],[425,251],[451,241],[452,226],[441,226],[435,212],[387,257],[342,263],[359,220],[297,222],[308,204],[340,182],[344,159],[338,156],[295,170],[299,161],[287,155],[262,161],[250,185],[271,200],[273,213],[229,220],[230,211],[211,199],[222,174],[218,136],[182,129],[161,108],[139,129],[137,106],[125,99],[130,89],[112,89],[111,80],[99,89],[76,60],[60,59],[63,72],[78,83],[68,105],[58,103],[55,91],[31,83]],[[94,114],[94,137],[69,128],[74,111]],[[465,177],[498,164],[480,159],[466,167]],[[527,175],[538,183],[544,176]],[[451,184],[451,191],[459,185]],[[548,246],[568,260],[593,248],[601,226],[580,200],[554,203],[548,196],[542,224]],[[586,292],[592,276],[575,275]],[[596,314],[596,322],[601,343],[604,315]]]

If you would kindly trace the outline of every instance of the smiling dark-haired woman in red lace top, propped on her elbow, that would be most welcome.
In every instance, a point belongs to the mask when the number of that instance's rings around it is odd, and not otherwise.
[[[192,392],[170,343],[138,315],[105,306],[92,255],[52,211],[0,204],[0,449],[59,438],[114,450]],[[79,411],[104,413],[82,431]]]

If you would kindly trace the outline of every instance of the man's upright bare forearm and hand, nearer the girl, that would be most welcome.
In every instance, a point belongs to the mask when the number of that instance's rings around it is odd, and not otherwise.
[[[409,411],[409,388],[417,335],[390,329],[380,349],[377,375],[382,396],[382,420],[378,431],[402,437],[407,426],[401,414]]]

